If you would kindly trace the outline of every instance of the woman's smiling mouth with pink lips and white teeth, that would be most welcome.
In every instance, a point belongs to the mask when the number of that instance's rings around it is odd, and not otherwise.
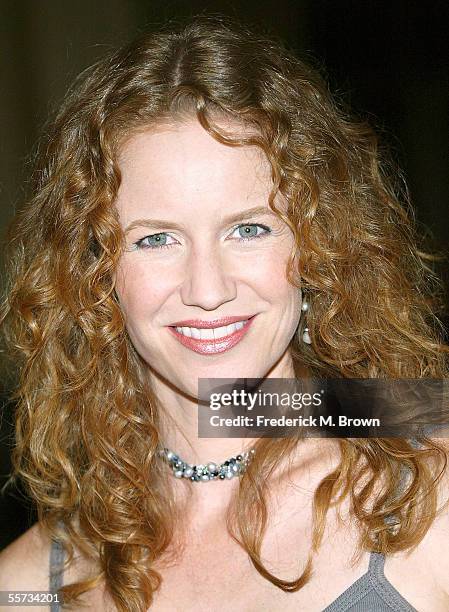
[[[256,315],[220,327],[169,326],[172,335],[186,348],[204,355],[222,353],[238,344]]]

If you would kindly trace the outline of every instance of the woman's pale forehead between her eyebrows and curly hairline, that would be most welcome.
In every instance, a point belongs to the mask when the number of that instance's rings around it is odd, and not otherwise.
[[[268,206],[271,167],[263,151],[223,145],[196,120],[134,134],[118,163],[117,206],[123,213],[142,205],[177,211],[206,203],[228,211],[248,201]]]

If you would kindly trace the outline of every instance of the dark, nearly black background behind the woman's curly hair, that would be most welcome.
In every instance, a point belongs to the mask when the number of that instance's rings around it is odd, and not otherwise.
[[[21,0],[0,3],[0,234],[23,201],[45,121],[81,70],[138,31],[222,13],[282,38],[323,67],[331,89],[381,132],[406,176],[420,231],[449,244],[448,3],[339,0]],[[447,265],[440,264],[447,284]],[[0,381],[1,384],[1,381]],[[5,386],[5,385],[3,385]],[[3,389],[6,402],[7,389]],[[10,470],[5,403],[0,486]],[[35,521],[18,491],[0,498],[0,548]]]

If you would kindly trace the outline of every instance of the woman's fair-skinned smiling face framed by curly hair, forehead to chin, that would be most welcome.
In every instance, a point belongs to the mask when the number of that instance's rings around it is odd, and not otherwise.
[[[119,166],[116,292],[145,362],[192,397],[198,378],[294,377],[294,240],[269,208],[260,149],[222,145],[192,120],[134,135]]]

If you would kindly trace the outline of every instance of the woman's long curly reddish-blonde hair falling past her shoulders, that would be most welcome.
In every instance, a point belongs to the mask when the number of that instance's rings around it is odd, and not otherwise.
[[[97,567],[63,587],[69,604],[104,580],[118,610],[146,610],[162,580],[153,564],[179,518],[157,457],[163,406],[114,290],[124,238],[114,201],[124,140],[184,116],[224,145],[260,147],[271,164],[269,204],[295,236],[288,279],[311,304],[312,344],[300,342],[298,329],[290,345],[295,372],[448,374],[440,285],[420,250],[402,179],[379,154],[372,129],[331,97],[313,67],[223,18],[171,24],[110,53],[75,83],[40,147],[33,197],[9,231],[0,312],[18,372],[14,476],[48,532],[63,540],[69,562],[76,547]],[[228,133],[218,125],[223,116],[252,130]],[[287,212],[275,207],[278,193]],[[269,475],[299,440],[258,440],[228,529],[284,591],[309,580],[326,513],[347,496],[359,551],[411,548],[439,512],[447,463],[442,444],[419,443],[338,440],[340,463],[314,492],[312,547],[295,580],[266,569],[261,545]],[[410,478],[398,494],[404,469]]]

